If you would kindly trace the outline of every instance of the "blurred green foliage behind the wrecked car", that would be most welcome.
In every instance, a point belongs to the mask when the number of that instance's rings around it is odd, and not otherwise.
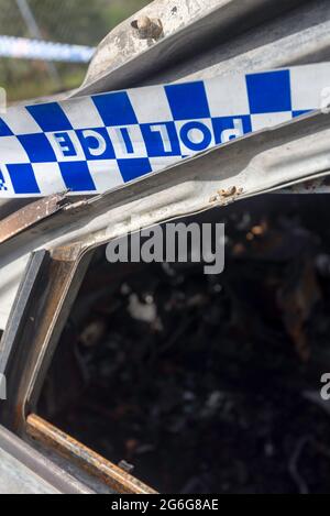
[[[150,0],[28,0],[47,41],[97,46],[121,21]],[[30,37],[15,0],[0,0],[0,34]],[[41,97],[79,86],[86,66],[56,64],[54,81],[45,62],[0,58],[0,85],[10,100]]]

